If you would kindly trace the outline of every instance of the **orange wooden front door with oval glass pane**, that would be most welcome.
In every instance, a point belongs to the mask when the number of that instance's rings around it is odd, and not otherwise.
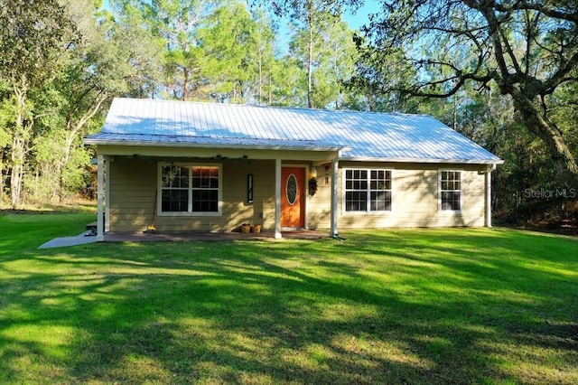
[[[281,168],[281,227],[305,227],[305,168]]]

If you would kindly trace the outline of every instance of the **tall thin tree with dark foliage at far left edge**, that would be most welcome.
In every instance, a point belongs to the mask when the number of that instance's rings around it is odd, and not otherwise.
[[[51,80],[61,52],[70,49],[77,36],[74,23],[57,0],[0,0],[0,36],[0,79],[9,84],[9,103],[14,106],[14,119],[5,122],[4,130],[12,137],[8,166],[11,201],[16,205],[21,202],[34,129],[28,94]]]

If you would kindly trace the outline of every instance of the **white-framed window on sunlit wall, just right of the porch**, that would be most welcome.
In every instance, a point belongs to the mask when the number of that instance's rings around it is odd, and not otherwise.
[[[391,211],[391,170],[345,170],[345,211]]]

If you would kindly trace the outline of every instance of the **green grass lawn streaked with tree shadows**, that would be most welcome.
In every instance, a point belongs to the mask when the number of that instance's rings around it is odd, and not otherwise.
[[[517,230],[35,249],[0,217],[0,383],[576,383],[578,241]]]

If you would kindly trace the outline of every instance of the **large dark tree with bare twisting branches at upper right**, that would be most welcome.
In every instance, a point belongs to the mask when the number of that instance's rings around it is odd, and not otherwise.
[[[575,0],[384,1],[364,32],[367,61],[396,54],[416,71],[392,90],[448,98],[468,86],[496,88],[512,99],[528,132],[578,176],[575,152],[552,113],[561,87],[578,81]],[[370,71],[362,76],[372,81]]]

